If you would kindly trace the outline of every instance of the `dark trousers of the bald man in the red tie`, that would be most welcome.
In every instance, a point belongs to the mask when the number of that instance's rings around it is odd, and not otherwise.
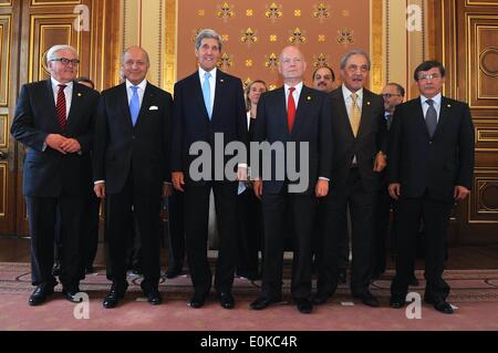
[[[291,221],[292,283],[294,299],[308,299],[311,294],[311,242],[318,200],[314,195],[263,194],[264,246],[261,297],[279,300],[282,295],[283,251],[286,229]],[[288,217],[291,215],[291,217]]]

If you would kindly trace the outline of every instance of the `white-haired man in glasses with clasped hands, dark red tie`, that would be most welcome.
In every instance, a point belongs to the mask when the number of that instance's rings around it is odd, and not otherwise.
[[[52,274],[54,232],[60,209],[64,297],[79,301],[84,278],[82,242],[92,188],[93,125],[98,93],[73,80],[77,52],[54,45],[46,54],[50,79],[22,86],[11,133],[27,146],[22,191],[31,233],[31,281],[37,289],[30,305],[41,304],[56,285]]]

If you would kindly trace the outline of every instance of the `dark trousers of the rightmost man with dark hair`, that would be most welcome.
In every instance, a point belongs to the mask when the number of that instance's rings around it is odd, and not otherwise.
[[[424,221],[425,237],[425,295],[433,300],[444,300],[449,285],[443,280],[446,256],[446,233],[448,230],[452,203],[440,203],[427,195],[421,198],[400,199],[397,204],[396,276],[391,284],[393,295],[405,297],[416,258],[416,239]]]

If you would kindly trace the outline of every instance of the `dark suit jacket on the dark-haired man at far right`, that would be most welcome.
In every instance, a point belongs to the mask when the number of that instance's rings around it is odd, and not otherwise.
[[[390,183],[401,183],[405,198],[428,196],[453,201],[456,185],[471,188],[474,125],[467,104],[442,98],[437,128],[430,139],[421,98],[396,106],[391,126]]]

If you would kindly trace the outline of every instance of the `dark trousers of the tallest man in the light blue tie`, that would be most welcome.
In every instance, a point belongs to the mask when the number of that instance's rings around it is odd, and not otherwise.
[[[237,261],[237,183],[212,181],[203,186],[187,185],[185,188],[187,258],[194,290],[198,295],[209,294],[212,280],[207,258],[211,188],[215,194],[219,230],[215,273],[215,289],[218,293],[231,291]]]

